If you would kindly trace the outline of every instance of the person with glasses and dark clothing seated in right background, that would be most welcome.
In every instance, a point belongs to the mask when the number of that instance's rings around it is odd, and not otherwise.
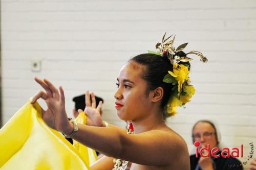
[[[218,147],[220,143],[220,133],[217,132],[216,126],[209,120],[199,120],[192,129],[193,143],[195,141],[200,142],[198,151],[202,147],[206,147],[209,144],[209,150],[214,147]],[[221,151],[215,155],[220,154]],[[203,153],[206,155],[207,153]],[[190,169],[191,170],[241,170],[243,169],[242,163],[236,158],[219,158],[212,157],[200,157],[196,154],[190,155]]]

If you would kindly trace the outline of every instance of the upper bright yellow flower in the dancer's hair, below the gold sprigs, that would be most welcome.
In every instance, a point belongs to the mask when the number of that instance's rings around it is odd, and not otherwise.
[[[168,71],[170,76],[173,76],[178,82],[178,95],[180,94],[181,88],[185,80],[188,80],[188,68],[183,64],[173,63],[173,72]]]

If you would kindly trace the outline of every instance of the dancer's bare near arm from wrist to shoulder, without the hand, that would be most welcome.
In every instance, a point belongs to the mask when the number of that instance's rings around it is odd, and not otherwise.
[[[177,135],[162,130],[128,135],[111,127],[79,124],[72,138],[106,156],[144,165],[167,165],[187,150]]]

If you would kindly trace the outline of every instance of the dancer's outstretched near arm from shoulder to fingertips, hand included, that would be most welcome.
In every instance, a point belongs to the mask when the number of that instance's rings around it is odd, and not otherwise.
[[[65,95],[62,87],[58,89],[48,80],[35,79],[45,90],[39,91],[31,103],[39,98],[46,101],[47,110],[42,115],[49,115],[46,123],[69,135],[74,130],[68,121],[65,109]],[[45,119],[44,119],[45,120]],[[144,165],[167,165],[187,150],[185,142],[174,132],[153,130],[141,134],[128,135],[122,130],[111,127],[92,127],[78,124],[78,131],[72,138],[106,156],[116,157]]]

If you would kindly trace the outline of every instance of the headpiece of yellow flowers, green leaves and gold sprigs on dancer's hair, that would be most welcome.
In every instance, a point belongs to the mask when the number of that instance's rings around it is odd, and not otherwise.
[[[190,101],[192,96],[195,94],[195,88],[190,84],[188,77],[189,74],[189,61],[193,60],[192,58],[187,57],[189,54],[195,54],[199,56],[202,62],[207,62],[208,59],[203,56],[202,53],[198,51],[190,51],[184,53],[182,50],[186,47],[188,43],[184,43],[177,48],[174,47],[175,36],[170,39],[173,35],[165,38],[166,33],[162,38],[162,43],[157,43],[156,48],[159,49],[158,52],[148,51],[148,53],[157,54],[159,56],[166,56],[170,63],[173,65],[173,71],[169,70],[168,74],[164,76],[163,82],[172,84],[173,93],[170,95],[170,98],[167,102],[165,113],[166,116],[175,115],[176,108],[178,106],[183,106]]]

